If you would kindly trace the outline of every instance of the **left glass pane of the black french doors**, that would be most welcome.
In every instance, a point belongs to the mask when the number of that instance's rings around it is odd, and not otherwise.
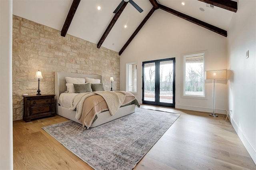
[[[155,63],[144,64],[144,101],[155,101]]]

